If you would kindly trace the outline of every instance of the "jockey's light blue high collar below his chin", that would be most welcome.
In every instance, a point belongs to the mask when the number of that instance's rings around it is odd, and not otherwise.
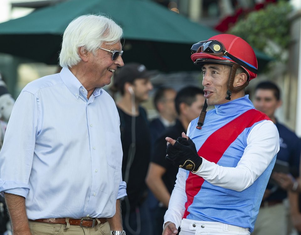
[[[254,108],[252,102],[249,100],[249,95],[231,100],[230,102],[215,105],[216,114],[222,116],[236,115],[240,112],[246,112],[249,109]]]

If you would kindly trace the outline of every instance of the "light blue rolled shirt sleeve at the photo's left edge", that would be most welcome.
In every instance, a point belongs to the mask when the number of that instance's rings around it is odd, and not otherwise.
[[[38,127],[38,101],[28,91],[16,100],[0,152],[0,191],[26,198]]]

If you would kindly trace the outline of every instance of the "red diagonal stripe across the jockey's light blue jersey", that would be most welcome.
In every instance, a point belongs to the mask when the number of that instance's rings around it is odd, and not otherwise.
[[[204,157],[210,162],[217,163],[223,156],[226,149],[228,149],[230,144],[235,141],[245,128],[251,127],[254,123],[262,120],[270,120],[270,118],[256,109],[246,111],[212,133],[198,150],[198,155]],[[194,196],[198,194],[204,181],[205,180],[202,177],[189,172],[186,180],[185,191],[187,195],[187,202],[185,203],[186,210],[183,218],[186,218],[189,214],[187,209],[193,203]]]

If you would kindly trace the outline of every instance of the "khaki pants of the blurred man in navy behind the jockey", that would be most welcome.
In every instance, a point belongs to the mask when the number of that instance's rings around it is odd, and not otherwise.
[[[286,235],[287,210],[283,203],[260,207],[252,235]]]

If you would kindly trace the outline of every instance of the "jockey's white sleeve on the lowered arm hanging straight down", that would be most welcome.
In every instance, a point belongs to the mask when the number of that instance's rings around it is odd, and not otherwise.
[[[185,202],[187,201],[185,192],[186,178],[187,171],[179,169],[176,184],[169,200],[168,210],[164,216],[163,226],[168,221],[173,222],[176,227],[179,227],[181,224],[185,212]]]

